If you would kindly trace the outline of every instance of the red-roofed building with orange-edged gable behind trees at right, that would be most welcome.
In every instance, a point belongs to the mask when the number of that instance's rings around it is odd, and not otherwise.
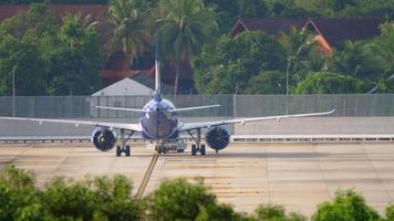
[[[243,31],[263,31],[280,38],[290,33],[291,27],[309,30],[314,33],[314,40],[320,44],[320,52],[331,54],[333,48],[341,48],[345,40],[365,40],[379,35],[380,25],[386,20],[381,18],[309,18],[309,19],[238,19],[230,36]]]

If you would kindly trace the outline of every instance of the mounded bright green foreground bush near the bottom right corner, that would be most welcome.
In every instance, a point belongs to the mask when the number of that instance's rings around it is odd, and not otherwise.
[[[379,213],[353,190],[338,191],[333,201],[319,204],[312,221],[381,220]]]

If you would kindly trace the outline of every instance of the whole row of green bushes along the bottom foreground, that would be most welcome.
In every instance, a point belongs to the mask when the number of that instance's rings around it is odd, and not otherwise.
[[[0,171],[0,220],[196,220],[196,221],[305,221],[307,218],[274,204],[260,204],[253,213],[236,212],[218,203],[201,178],[165,180],[144,199],[132,196],[133,185],[123,177],[95,177],[73,181],[53,178],[37,188],[33,175],[13,166]],[[391,221],[365,203],[354,190],[338,191],[319,204],[312,221]]]

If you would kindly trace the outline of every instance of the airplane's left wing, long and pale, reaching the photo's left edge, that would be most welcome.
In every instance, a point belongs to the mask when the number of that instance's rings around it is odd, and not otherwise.
[[[85,120],[69,120],[69,119],[48,119],[48,118],[24,118],[24,117],[0,117],[0,120],[1,119],[37,122],[39,124],[42,123],[70,124],[70,125],[75,125],[75,127],[80,125],[86,125],[86,126],[95,126],[95,127],[107,127],[107,128],[126,129],[133,131],[142,131],[142,127],[139,124],[102,123],[102,122],[85,122]]]

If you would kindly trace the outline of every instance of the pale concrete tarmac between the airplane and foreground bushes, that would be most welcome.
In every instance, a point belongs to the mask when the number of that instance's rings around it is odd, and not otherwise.
[[[101,152],[89,143],[0,144],[0,169],[13,164],[31,170],[43,187],[54,176],[124,175],[135,193],[154,151],[132,143],[131,158]],[[219,202],[252,212],[260,203],[283,206],[311,215],[339,189],[353,188],[383,213],[394,202],[394,144],[231,144],[216,155],[168,154],[158,157],[145,194],[163,179],[204,177]]]

